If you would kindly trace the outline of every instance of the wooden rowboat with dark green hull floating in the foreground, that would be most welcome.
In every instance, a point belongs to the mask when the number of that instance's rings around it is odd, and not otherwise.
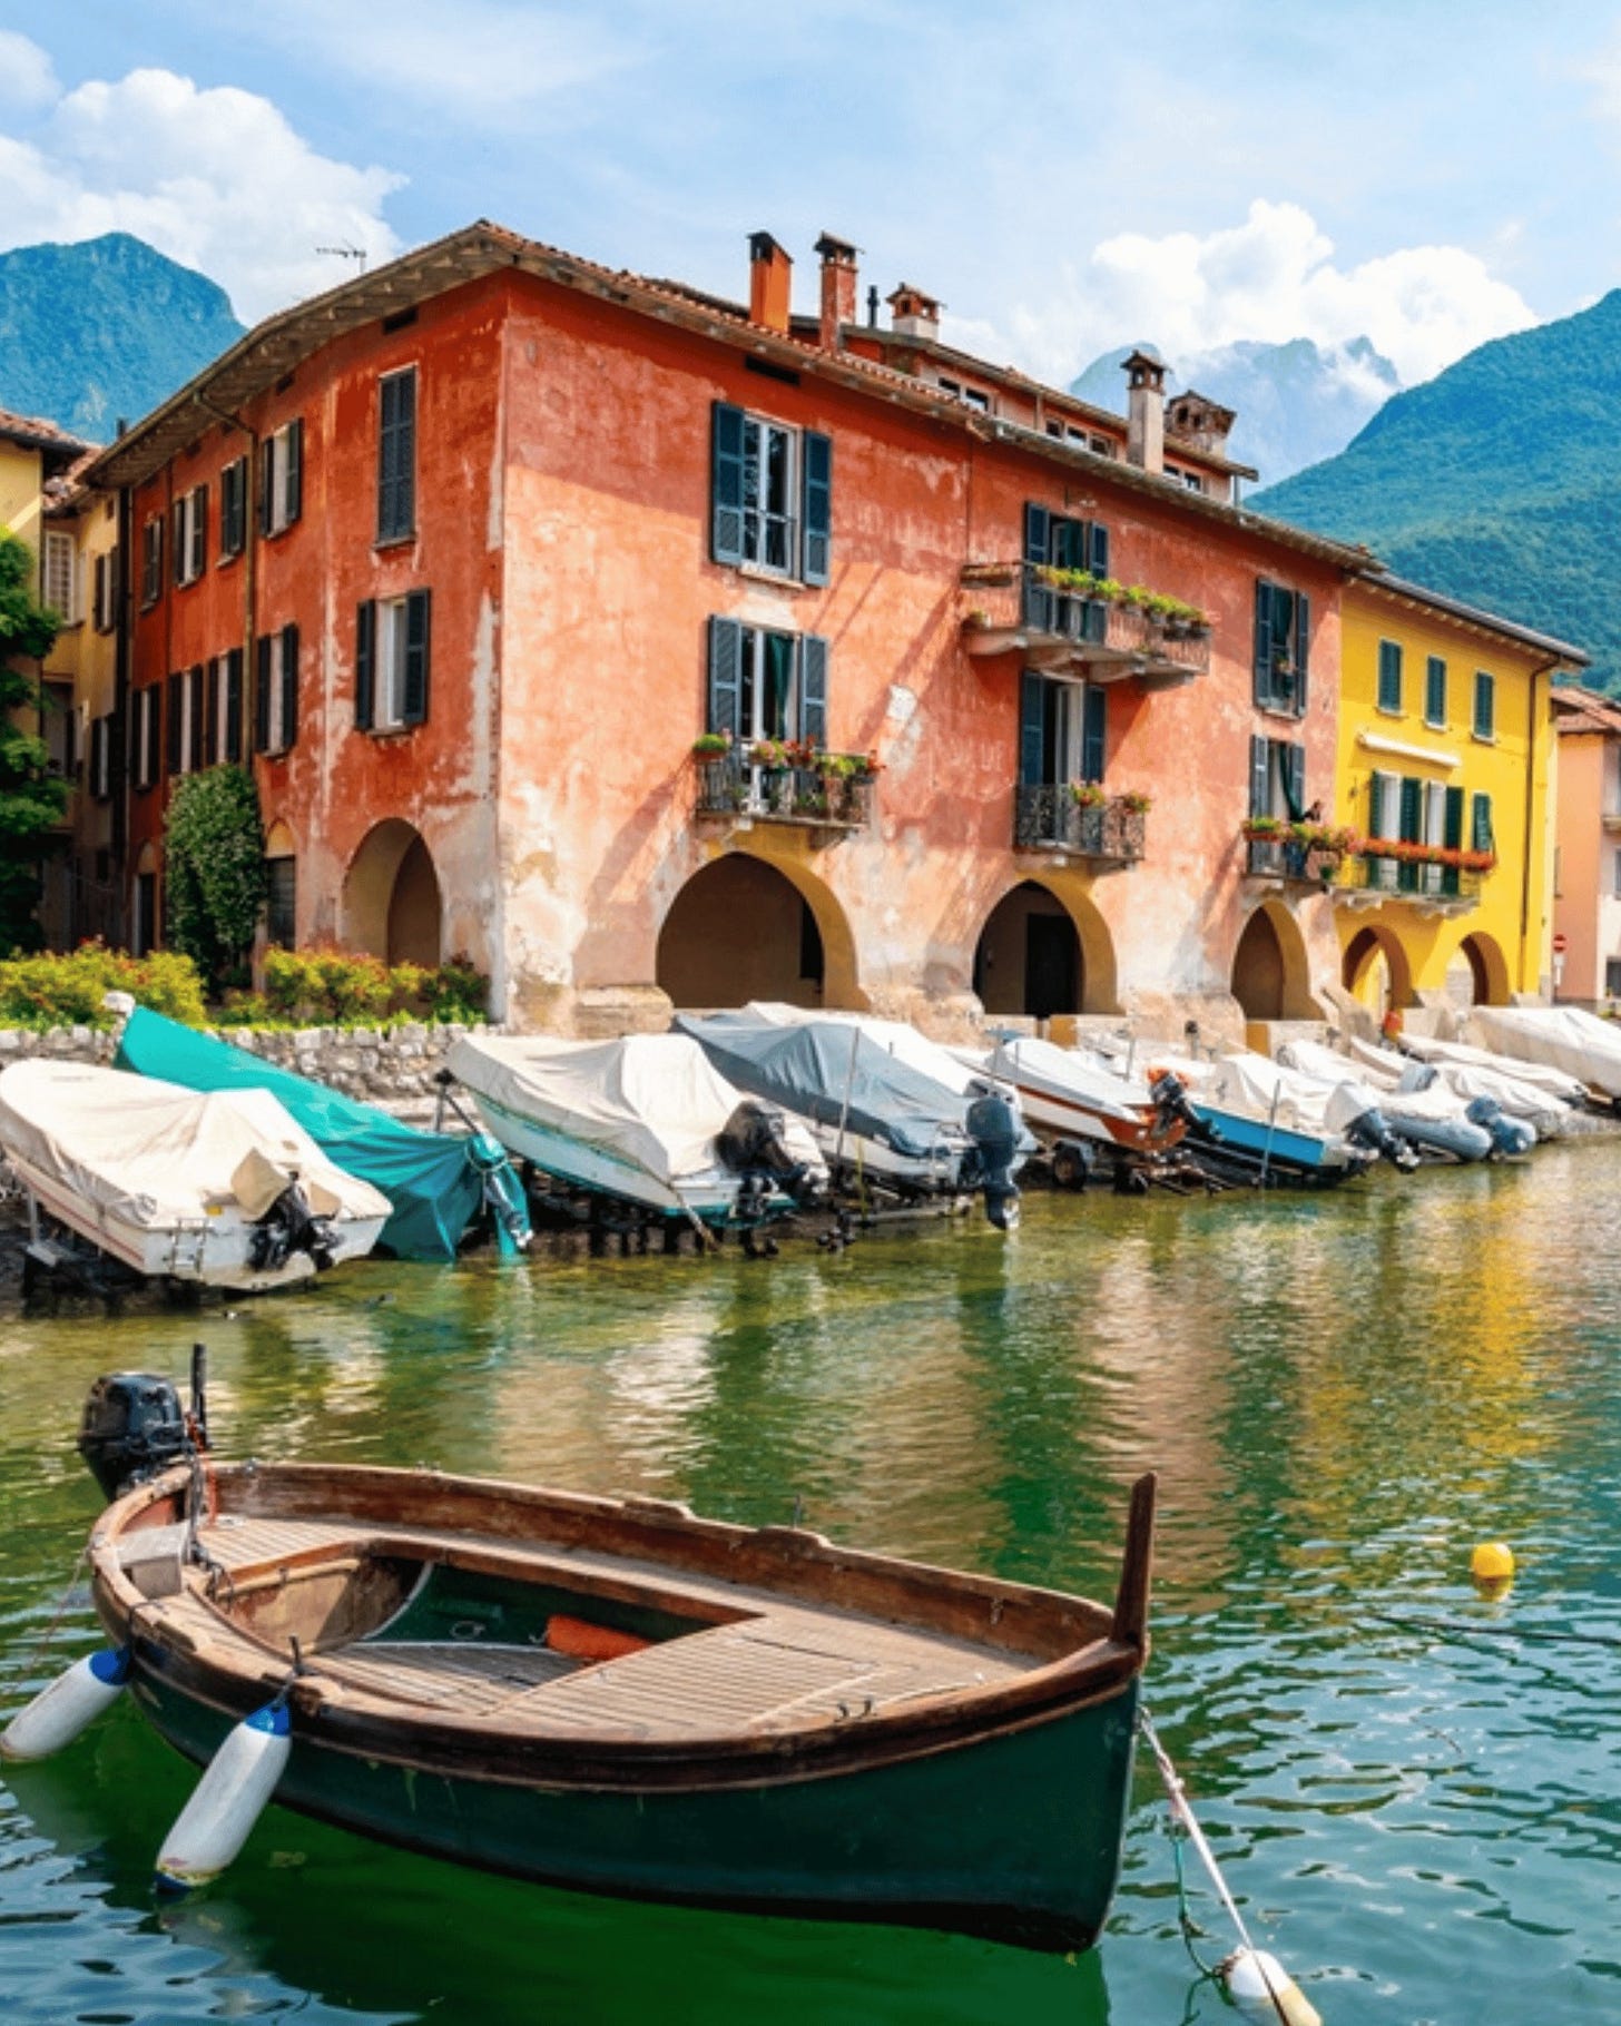
[[[657,1499],[207,1459],[107,1507],[91,1580],[186,1757],[288,1692],[288,1807],[580,1890],[1084,1949],[1151,1534],[1145,1477],[1110,1611]]]

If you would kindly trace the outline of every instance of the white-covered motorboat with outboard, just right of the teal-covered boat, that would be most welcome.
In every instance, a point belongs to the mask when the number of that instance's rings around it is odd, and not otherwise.
[[[446,1068],[503,1147],[594,1195],[701,1224],[752,1224],[827,1185],[804,1122],[750,1102],[679,1033],[466,1035]]]

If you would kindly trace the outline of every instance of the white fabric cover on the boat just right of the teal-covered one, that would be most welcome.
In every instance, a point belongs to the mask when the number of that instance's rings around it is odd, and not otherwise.
[[[744,1092],[683,1033],[632,1033],[620,1041],[466,1035],[446,1068],[480,1098],[669,1185],[715,1173],[715,1135],[744,1102]],[[800,1120],[786,1120],[784,1141],[796,1161],[823,1165]]]

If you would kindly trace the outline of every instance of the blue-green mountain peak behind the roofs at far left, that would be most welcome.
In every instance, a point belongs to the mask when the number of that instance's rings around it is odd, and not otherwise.
[[[223,288],[130,233],[0,253],[0,407],[91,444],[241,334]]]

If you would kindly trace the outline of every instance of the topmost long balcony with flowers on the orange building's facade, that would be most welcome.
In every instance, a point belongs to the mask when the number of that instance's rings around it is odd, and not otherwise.
[[[973,610],[962,646],[973,656],[1017,650],[1027,669],[1084,669],[1092,683],[1133,677],[1145,689],[1173,689],[1210,673],[1210,626],[1173,600],[1141,586],[1118,596],[1088,594],[1084,571],[1041,563],[969,563],[962,588]],[[1141,602],[1139,602],[1141,600]]]

